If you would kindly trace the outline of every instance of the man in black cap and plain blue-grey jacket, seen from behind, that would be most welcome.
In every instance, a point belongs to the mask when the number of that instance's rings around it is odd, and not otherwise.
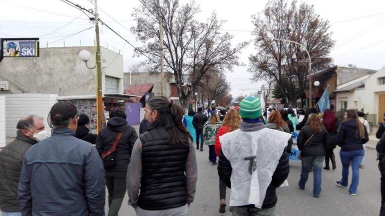
[[[104,167],[96,148],[75,137],[77,109],[56,103],[52,136],[24,157],[19,204],[23,215],[104,215]]]

